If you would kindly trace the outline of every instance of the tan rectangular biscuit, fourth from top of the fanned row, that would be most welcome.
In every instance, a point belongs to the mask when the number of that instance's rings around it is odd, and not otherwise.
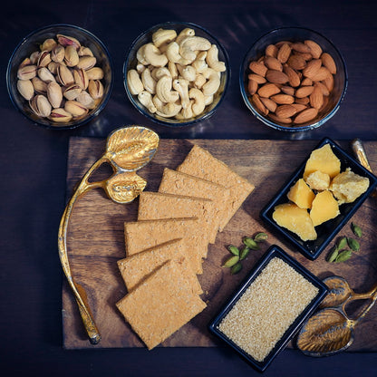
[[[163,244],[175,238],[183,238],[187,253],[193,262],[195,272],[203,273],[202,257],[207,256],[208,242],[199,237],[198,218],[160,218],[124,223],[126,256],[140,253],[150,247]]]

